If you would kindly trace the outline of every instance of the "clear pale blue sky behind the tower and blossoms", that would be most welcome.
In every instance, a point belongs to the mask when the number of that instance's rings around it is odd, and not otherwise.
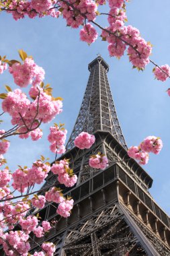
[[[153,44],[151,59],[159,65],[170,65],[169,8],[169,0],[164,0],[163,4],[158,0],[131,1],[127,4],[128,24],[138,28],[145,40]],[[144,169],[154,179],[151,194],[169,214],[170,98],[165,92],[170,87],[169,80],[165,83],[156,81],[152,74],[153,65],[148,65],[144,72],[138,72],[132,69],[126,55],[120,61],[110,58],[107,44],[100,38],[91,46],[81,42],[79,29],[67,27],[62,18],[27,18],[15,22],[11,15],[1,13],[0,20],[0,55],[7,54],[9,59],[17,59],[17,50],[24,49],[45,69],[45,82],[54,88],[54,96],[64,98],[63,113],[55,122],[65,123],[68,137],[87,85],[87,65],[97,53],[101,54],[110,65],[108,78],[128,146],[138,145],[148,135],[156,135],[163,140],[163,150],[158,156],[151,156]],[[99,20],[104,26],[107,25],[106,16]],[[0,82],[1,92],[4,92],[4,84],[14,88],[13,79],[7,72],[1,75]],[[4,125],[9,125],[8,117]],[[31,166],[40,154],[54,160],[46,140],[49,126],[43,127],[44,138],[36,143],[30,139],[11,139],[11,147],[6,154],[11,170],[15,170],[17,164]]]

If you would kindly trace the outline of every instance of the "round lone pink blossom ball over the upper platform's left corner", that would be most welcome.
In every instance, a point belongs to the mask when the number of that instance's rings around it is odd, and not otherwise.
[[[82,131],[76,138],[75,138],[75,146],[84,150],[85,148],[91,148],[93,143],[95,143],[95,136],[85,131]]]

